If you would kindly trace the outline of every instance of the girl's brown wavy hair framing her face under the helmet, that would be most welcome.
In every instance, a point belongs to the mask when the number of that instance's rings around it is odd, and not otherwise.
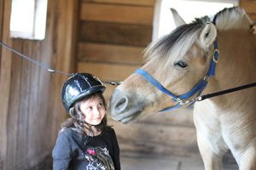
[[[84,122],[84,114],[82,111],[80,111],[80,105],[82,104],[83,101],[88,100],[88,99],[94,99],[96,96],[99,96],[102,99],[103,105],[105,107],[105,110],[107,110],[107,103],[106,99],[103,97],[102,93],[94,93],[90,94],[83,99],[77,101],[74,103],[74,105],[69,109],[69,115],[71,116],[70,118],[67,119],[66,122],[63,122],[61,124],[61,131],[67,129],[67,128],[73,128],[73,130],[85,134],[84,128],[88,128],[89,132],[91,125],[87,122]],[[108,127],[107,123],[107,114],[102,119],[102,122],[98,125],[95,126],[98,131],[104,131]]]

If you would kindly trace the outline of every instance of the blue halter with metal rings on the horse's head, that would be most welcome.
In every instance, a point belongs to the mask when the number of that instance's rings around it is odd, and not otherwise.
[[[160,82],[158,82],[157,80],[154,79],[154,77],[152,77],[150,74],[148,74],[147,71],[144,71],[143,69],[137,69],[136,73],[140,74],[143,76],[143,78],[145,78],[148,82],[150,82],[152,85],[154,85],[155,88],[158,88],[162,93],[167,94],[168,96],[171,96],[172,100],[177,102],[177,105],[174,106],[170,106],[167,107],[166,109],[163,109],[161,111],[172,111],[173,109],[177,109],[183,105],[186,105],[188,103],[194,104],[195,103],[195,99],[191,99],[191,100],[186,100],[189,99],[191,96],[193,96],[194,94],[197,93],[198,97],[199,95],[201,95],[202,91],[204,90],[204,88],[206,88],[207,86],[207,80],[208,77],[212,77],[215,75],[215,67],[216,64],[218,63],[218,42],[213,42],[213,46],[214,46],[214,52],[213,52],[213,56],[212,56],[212,60],[209,66],[209,69],[207,71],[207,75],[201,79],[200,82],[198,82],[194,88],[192,88],[189,92],[182,94],[182,95],[175,95],[172,94],[172,92],[170,92],[168,89],[166,89],[165,87],[163,87]]]

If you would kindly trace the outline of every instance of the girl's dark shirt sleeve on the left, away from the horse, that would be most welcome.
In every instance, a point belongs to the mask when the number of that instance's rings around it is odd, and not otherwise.
[[[66,170],[72,159],[72,150],[65,133],[58,136],[54,150],[52,151],[53,170]]]

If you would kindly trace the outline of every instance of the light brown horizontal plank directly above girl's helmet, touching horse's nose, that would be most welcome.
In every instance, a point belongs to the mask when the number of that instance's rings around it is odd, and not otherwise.
[[[89,72],[102,81],[120,82],[131,75],[140,65],[111,65],[106,63],[79,62],[79,72]]]

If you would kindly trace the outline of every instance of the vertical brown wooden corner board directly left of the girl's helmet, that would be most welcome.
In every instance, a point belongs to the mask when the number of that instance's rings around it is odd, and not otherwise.
[[[79,19],[79,1],[70,1],[70,0],[59,0],[57,5],[60,15],[57,18],[55,39],[56,44],[56,53],[53,55],[55,59],[55,69],[64,72],[75,72],[76,67],[76,58],[74,58],[77,53],[77,26]],[[53,8],[55,10],[55,8]],[[61,11],[65,11],[61,12]],[[66,29],[63,29],[65,27]],[[63,41],[63,35],[65,40]],[[64,49],[64,50],[63,50]],[[51,121],[51,132],[50,132],[50,141],[51,144],[55,144],[55,139],[57,138],[58,132],[60,130],[61,122],[64,122],[64,119],[67,117],[67,113],[64,110],[64,107],[61,103],[61,87],[63,82],[67,79],[66,76],[55,76],[51,77],[51,82],[53,82],[53,88],[50,89],[50,92],[53,94],[53,97],[50,99],[50,108],[55,112],[52,114]],[[58,102],[56,102],[58,101]]]

